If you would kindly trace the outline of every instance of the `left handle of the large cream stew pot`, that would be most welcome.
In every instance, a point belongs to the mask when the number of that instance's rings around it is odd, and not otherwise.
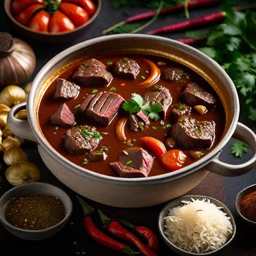
[[[28,119],[20,120],[15,117],[15,115],[22,109],[26,109],[26,102],[21,102],[12,107],[8,116],[7,116],[7,124],[10,131],[16,136],[31,140],[37,143],[35,135],[33,134]]]

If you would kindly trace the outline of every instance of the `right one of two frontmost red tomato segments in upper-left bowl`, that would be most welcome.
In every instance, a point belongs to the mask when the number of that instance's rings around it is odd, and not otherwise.
[[[75,26],[72,21],[65,14],[57,11],[50,19],[48,31],[51,33],[59,33],[70,31],[74,28]]]

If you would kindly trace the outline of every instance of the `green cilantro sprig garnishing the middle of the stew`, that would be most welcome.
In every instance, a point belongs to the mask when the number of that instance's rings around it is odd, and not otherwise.
[[[129,112],[130,114],[138,113],[140,110],[148,115],[154,121],[160,119],[159,112],[163,110],[160,103],[150,105],[149,102],[145,102],[140,94],[132,93],[131,99],[122,104],[122,109]]]

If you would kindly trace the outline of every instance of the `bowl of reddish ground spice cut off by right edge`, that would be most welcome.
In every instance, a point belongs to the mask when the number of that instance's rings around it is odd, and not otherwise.
[[[236,210],[244,221],[250,225],[256,225],[256,184],[237,194]]]

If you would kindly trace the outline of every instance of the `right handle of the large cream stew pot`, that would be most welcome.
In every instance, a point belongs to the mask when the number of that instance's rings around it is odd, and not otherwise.
[[[233,136],[237,140],[247,143],[253,151],[253,157],[243,164],[227,164],[219,159],[214,159],[211,163],[205,166],[209,172],[214,172],[227,177],[234,177],[249,172],[256,166],[256,136],[255,133],[246,125],[237,123],[236,131]]]

